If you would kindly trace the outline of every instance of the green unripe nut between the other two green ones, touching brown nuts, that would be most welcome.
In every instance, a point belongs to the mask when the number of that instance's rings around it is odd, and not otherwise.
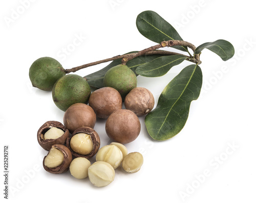
[[[53,86],[52,98],[55,105],[62,111],[66,111],[76,103],[88,103],[91,88],[83,77],[76,74],[68,74],[60,78]]]

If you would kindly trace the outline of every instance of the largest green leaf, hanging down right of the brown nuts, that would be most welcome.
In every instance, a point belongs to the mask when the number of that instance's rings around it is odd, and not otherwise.
[[[145,117],[147,132],[153,139],[166,140],[182,130],[191,101],[199,97],[202,78],[201,68],[189,65],[164,88],[157,107]]]

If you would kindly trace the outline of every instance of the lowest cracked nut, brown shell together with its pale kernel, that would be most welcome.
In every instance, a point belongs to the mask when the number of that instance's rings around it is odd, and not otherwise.
[[[42,161],[42,165],[46,171],[57,174],[66,172],[71,161],[72,154],[69,148],[62,144],[54,144]]]

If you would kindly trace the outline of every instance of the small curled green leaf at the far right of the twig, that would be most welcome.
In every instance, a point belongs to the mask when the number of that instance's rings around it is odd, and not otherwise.
[[[217,54],[219,57],[222,58],[223,61],[227,61],[234,55],[233,45],[230,42],[223,39],[201,44],[196,48],[195,54],[200,54],[204,48],[208,48],[209,50],[211,50],[211,52]]]

